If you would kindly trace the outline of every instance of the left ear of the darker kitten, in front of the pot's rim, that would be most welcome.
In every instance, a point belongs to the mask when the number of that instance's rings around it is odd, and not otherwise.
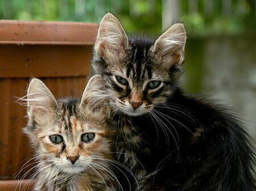
[[[121,59],[125,55],[128,38],[119,20],[110,12],[104,15],[98,28],[94,50],[105,61]]]

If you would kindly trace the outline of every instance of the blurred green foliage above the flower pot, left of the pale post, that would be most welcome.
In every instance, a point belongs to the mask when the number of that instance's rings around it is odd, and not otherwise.
[[[114,0],[0,0],[0,19],[100,22],[108,11],[128,32],[161,31],[162,3]]]

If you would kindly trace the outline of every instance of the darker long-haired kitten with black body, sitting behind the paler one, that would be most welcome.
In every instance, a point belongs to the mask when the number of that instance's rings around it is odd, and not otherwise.
[[[111,13],[101,20],[92,65],[115,110],[116,157],[141,191],[256,190],[255,150],[240,122],[179,87],[185,41],[183,24],[151,41],[128,38]]]

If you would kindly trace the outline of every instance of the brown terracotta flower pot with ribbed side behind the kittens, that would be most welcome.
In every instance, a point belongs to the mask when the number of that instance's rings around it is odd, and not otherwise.
[[[56,97],[80,97],[96,32],[97,24],[0,20],[0,180],[8,180],[0,181],[0,190],[15,190],[17,181],[10,180],[32,158],[22,133],[26,107],[14,96],[26,95],[28,80],[36,77]]]

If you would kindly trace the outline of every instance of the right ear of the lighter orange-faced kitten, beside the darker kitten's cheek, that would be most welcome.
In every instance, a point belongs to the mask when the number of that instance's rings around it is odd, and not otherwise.
[[[90,78],[82,94],[80,107],[89,107],[94,112],[110,117],[109,95],[104,79],[100,75],[94,75]]]

